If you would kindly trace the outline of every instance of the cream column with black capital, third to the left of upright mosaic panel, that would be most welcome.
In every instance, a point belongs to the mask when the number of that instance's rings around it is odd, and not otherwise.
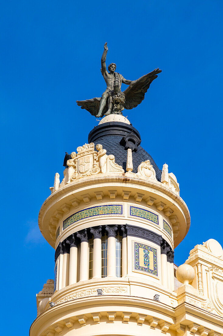
[[[90,228],[93,235],[93,278],[101,278],[101,226]]]

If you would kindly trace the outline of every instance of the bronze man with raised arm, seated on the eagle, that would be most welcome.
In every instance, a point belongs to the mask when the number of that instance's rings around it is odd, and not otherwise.
[[[107,88],[101,96],[99,111],[96,117],[102,116],[102,112],[105,107],[107,99],[108,99],[108,110],[104,115],[108,116],[109,114],[111,114],[111,109],[112,109],[112,93],[113,93],[113,87],[114,87],[114,81],[115,81],[114,73],[116,70],[116,64],[115,63],[109,64],[108,66],[109,73],[108,73],[106,69],[106,64],[105,64],[107,51],[108,51],[108,47],[107,47],[107,42],[106,42],[104,44],[104,51],[101,57],[101,73],[107,84]],[[120,85],[119,88],[121,88],[122,83],[127,84],[127,85],[130,85],[132,83],[132,81],[125,79],[121,74],[119,73],[116,73],[116,74],[119,77],[119,85]]]

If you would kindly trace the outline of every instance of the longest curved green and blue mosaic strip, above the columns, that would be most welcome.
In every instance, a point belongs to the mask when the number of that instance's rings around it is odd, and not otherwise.
[[[99,205],[92,208],[87,208],[80,210],[68,217],[63,222],[63,229],[69,225],[76,223],[78,220],[93,217],[93,216],[102,216],[102,215],[122,215],[123,206],[121,204],[114,205]]]

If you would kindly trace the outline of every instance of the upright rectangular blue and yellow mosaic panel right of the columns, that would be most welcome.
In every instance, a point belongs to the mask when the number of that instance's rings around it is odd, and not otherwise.
[[[141,243],[134,243],[135,269],[158,277],[157,249]]]

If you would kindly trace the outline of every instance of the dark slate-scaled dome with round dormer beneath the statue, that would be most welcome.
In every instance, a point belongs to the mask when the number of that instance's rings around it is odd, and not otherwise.
[[[161,181],[162,171],[157,167],[153,158],[140,146],[141,137],[137,129],[131,124],[122,122],[107,122],[95,126],[88,135],[88,143],[100,143],[107,154],[113,154],[116,163],[126,171],[127,149],[132,149],[133,173],[141,162],[150,160],[156,172],[156,178]]]

